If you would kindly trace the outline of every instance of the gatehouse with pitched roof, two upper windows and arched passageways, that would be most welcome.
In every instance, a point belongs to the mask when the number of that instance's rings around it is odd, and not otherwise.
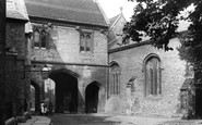
[[[35,112],[45,79],[55,83],[56,112],[102,112],[106,101],[108,21],[95,0],[25,0],[33,35],[31,85]],[[40,72],[45,67],[49,72]]]

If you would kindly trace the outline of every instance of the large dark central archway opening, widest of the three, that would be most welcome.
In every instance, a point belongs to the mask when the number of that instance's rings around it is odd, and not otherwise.
[[[55,112],[78,112],[78,79],[66,72],[52,73],[49,77],[56,83]]]

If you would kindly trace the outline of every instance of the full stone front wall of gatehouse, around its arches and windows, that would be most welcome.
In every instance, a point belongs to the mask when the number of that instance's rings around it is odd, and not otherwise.
[[[40,24],[35,24],[41,26]],[[40,71],[45,64],[51,65],[49,74],[66,71],[78,79],[79,105],[78,111],[85,110],[85,88],[88,84],[97,82],[100,84],[98,111],[104,112],[105,107],[105,88],[107,84],[107,37],[98,29],[87,27],[93,32],[93,52],[80,52],[80,32],[74,27],[64,27],[52,25],[49,30],[49,41],[45,48],[32,47],[31,59],[32,68]],[[33,43],[32,43],[33,45]],[[37,83],[44,91],[44,77],[40,72],[33,72],[32,80]],[[43,92],[41,92],[41,100]]]

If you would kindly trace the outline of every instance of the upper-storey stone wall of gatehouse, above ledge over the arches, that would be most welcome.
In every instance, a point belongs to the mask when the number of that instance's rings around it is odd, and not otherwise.
[[[33,48],[32,60],[107,65],[107,37],[88,30],[94,33],[92,53],[80,52],[80,32],[74,27],[52,26],[47,49]]]

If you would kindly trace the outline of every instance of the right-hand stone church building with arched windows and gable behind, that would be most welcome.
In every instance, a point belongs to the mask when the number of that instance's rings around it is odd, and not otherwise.
[[[179,59],[178,38],[169,46],[173,51],[154,48],[148,38],[121,45],[126,18],[110,20],[109,27],[109,98],[106,112],[133,115],[179,115],[180,88],[186,79],[186,62]]]

